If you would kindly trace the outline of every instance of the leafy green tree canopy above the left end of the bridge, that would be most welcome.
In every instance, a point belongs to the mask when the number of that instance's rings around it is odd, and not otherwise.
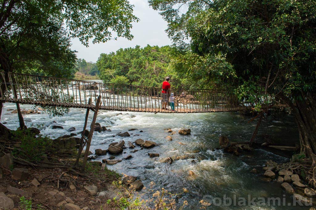
[[[75,51],[83,45],[117,37],[132,39],[133,5],[117,0],[0,1],[0,65],[4,71],[70,77]]]

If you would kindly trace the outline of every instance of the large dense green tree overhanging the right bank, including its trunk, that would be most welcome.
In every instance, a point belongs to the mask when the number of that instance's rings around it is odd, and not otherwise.
[[[161,11],[169,37],[183,50],[179,71],[207,77],[207,84],[230,88],[240,98],[270,95],[275,103],[287,104],[295,114],[301,153],[316,165],[315,1],[149,3]],[[191,39],[189,45],[185,38]]]

